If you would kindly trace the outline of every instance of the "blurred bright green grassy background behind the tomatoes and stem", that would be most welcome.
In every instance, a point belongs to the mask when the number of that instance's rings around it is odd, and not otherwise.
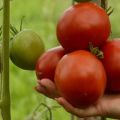
[[[114,8],[110,16],[111,37],[120,37],[120,0],[108,0],[108,2]],[[19,29],[20,20],[22,16],[25,16],[23,28],[36,31],[43,39],[46,49],[49,49],[59,44],[55,32],[56,23],[69,5],[71,5],[71,0],[12,0],[11,24]],[[2,0],[0,0],[0,6],[2,6]],[[0,25],[2,25],[2,11],[0,11]],[[35,72],[22,70],[10,61],[12,120],[48,120],[49,114],[43,106],[38,109],[34,119],[31,118],[33,111],[40,103],[58,107],[52,109],[53,120],[70,120],[69,113],[55,101],[37,93],[34,90],[35,86]]]

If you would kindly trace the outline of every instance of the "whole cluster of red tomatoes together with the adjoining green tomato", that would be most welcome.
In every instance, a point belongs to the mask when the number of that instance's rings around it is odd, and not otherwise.
[[[85,108],[106,93],[120,92],[120,41],[109,40],[111,23],[103,8],[89,0],[75,1],[81,3],[66,9],[57,23],[60,46],[44,52],[40,38],[24,31],[13,40],[10,55],[17,66],[35,69],[39,80],[52,80],[70,104]],[[102,51],[102,59],[91,52],[91,44],[93,51]]]

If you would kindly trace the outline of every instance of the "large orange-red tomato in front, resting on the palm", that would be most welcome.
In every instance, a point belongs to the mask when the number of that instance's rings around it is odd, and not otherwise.
[[[106,73],[96,56],[79,50],[66,54],[55,71],[58,92],[78,108],[94,104],[104,93]]]

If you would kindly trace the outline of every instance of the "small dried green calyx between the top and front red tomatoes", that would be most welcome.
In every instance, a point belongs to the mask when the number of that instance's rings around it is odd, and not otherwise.
[[[94,47],[93,44],[90,42],[89,43],[89,50],[92,54],[94,54],[96,57],[98,57],[99,59],[103,59],[104,58],[104,54],[103,52],[99,49],[99,47]]]

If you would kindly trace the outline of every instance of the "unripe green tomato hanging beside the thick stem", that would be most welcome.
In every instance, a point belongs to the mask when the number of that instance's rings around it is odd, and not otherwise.
[[[23,30],[11,41],[10,58],[25,70],[34,70],[38,57],[45,51],[43,41],[32,30]]]

